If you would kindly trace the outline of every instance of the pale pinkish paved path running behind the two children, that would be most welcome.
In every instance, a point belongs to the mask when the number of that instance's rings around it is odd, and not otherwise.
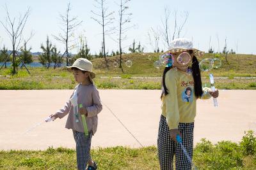
[[[156,145],[161,114],[160,90],[99,90],[102,102],[144,145]],[[44,118],[63,106],[72,90],[0,90],[0,150],[74,148],[67,117],[45,123]],[[219,107],[212,99],[198,100],[195,143],[207,138],[238,142],[244,131],[256,131],[256,90],[220,90]],[[140,145],[104,106],[92,146]],[[40,124],[42,123],[42,124]],[[35,129],[23,134],[38,125]]]

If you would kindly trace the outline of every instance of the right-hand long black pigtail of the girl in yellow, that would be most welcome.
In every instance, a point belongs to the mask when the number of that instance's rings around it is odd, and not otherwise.
[[[194,78],[194,89],[195,89],[195,96],[196,99],[202,96],[203,90],[202,90],[202,81],[201,81],[201,74],[200,74],[200,68],[199,68],[199,62],[196,59],[195,55],[193,55],[192,58],[192,74]]]

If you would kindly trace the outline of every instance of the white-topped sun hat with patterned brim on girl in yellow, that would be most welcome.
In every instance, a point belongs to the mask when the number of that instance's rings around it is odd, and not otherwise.
[[[193,48],[193,42],[186,38],[177,38],[171,41],[169,50],[164,53],[179,53],[187,50],[192,50],[195,57],[202,57],[203,51]]]

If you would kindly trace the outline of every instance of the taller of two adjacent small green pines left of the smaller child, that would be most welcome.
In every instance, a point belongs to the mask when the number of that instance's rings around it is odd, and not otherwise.
[[[47,36],[46,39],[46,46],[41,44],[41,49],[43,50],[43,53],[42,55],[39,55],[39,61],[43,66],[49,69],[51,64],[51,53],[54,50],[54,47],[52,47],[52,43],[49,41],[49,36]]]

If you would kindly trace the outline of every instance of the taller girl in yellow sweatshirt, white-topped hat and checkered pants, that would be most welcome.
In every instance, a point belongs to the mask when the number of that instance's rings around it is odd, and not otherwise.
[[[193,43],[184,38],[174,39],[170,50],[161,55],[161,62],[166,66],[163,72],[162,115],[157,138],[161,169],[173,169],[174,155],[176,169],[191,169],[191,162],[183,153],[176,137],[179,135],[182,138],[182,145],[192,158],[196,99],[203,94],[196,57],[202,55],[204,52],[193,48]],[[210,94],[218,97],[218,90]]]

